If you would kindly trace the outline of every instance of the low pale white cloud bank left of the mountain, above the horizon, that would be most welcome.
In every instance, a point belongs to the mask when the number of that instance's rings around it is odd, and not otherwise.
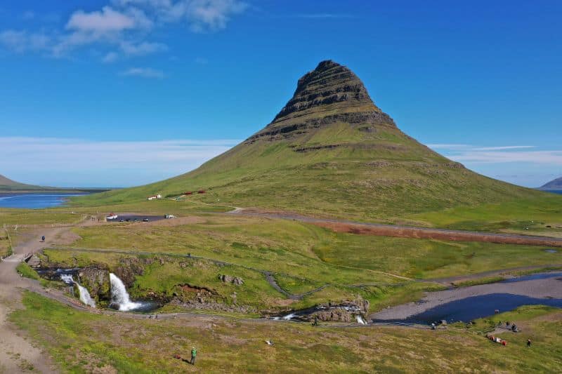
[[[3,163],[1,172],[41,185],[138,185],[197,168],[238,142],[0,138],[0,159],[11,160]]]

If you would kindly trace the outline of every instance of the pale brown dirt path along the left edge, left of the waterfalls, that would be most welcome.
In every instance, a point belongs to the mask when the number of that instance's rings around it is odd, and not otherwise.
[[[27,370],[56,373],[48,355],[23,338],[7,318],[10,312],[22,307],[22,289],[33,289],[38,286],[38,284],[34,286],[30,279],[21,278],[15,267],[27,253],[35,253],[49,246],[55,241],[56,236],[68,229],[70,228],[41,229],[35,232],[34,239],[16,246],[13,255],[0,262],[0,373],[22,373]],[[41,235],[46,236],[45,243],[39,241]]]

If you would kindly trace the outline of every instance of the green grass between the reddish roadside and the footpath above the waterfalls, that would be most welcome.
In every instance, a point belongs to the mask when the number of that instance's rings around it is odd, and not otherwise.
[[[188,225],[125,223],[74,232],[81,239],[73,247],[192,253],[292,274],[309,279],[311,287],[317,283],[376,281],[377,272],[429,279],[562,264],[562,253],[547,253],[537,246],[362,236],[303,222],[230,215],[202,215]]]

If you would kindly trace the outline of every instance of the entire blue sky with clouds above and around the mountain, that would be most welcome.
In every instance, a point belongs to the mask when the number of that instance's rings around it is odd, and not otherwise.
[[[200,165],[347,65],[407,134],[475,171],[562,176],[559,1],[0,4],[0,173],[130,186]]]

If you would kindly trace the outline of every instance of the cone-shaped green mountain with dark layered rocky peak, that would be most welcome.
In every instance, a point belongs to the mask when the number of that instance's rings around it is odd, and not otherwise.
[[[199,189],[207,193],[186,199],[366,220],[542,194],[473,173],[421,145],[374,104],[358,76],[331,60],[299,79],[265,128],[200,168],[81,201],[124,203]]]

